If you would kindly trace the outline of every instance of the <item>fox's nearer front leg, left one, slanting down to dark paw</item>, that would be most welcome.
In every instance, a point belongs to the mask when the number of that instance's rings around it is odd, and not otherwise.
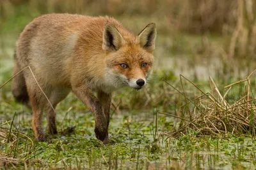
[[[84,86],[72,87],[72,90],[81,101],[93,112],[95,117],[95,135],[100,141],[108,136],[108,124],[100,101],[93,95],[91,89]]]

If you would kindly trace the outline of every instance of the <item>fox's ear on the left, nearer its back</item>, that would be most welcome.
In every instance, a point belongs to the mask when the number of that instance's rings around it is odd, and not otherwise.
[[[117,51],[122,46],[122,35],[116,29],[114,24],[108,23],[103,31],[103,50],[113,52]]]

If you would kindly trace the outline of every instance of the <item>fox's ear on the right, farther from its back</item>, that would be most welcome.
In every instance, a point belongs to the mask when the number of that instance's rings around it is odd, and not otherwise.
[[[138,35],[140,45],[148,52],[153,52],[155,49],[156,40],[156,24],[148,24]]]

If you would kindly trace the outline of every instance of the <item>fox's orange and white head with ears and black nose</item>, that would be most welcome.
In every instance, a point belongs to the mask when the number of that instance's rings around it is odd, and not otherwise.
[[[106,24],[102,48],[106,51],[105,79],[115,88],[127,85],[141,89],[151,73],[156,24],[148,24],[138,36],[122,35],[114,24]]]

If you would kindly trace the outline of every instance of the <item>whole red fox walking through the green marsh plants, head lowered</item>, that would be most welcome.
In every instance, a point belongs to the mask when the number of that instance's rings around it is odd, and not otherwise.
[[[124,86],[141,89],[147,83],[155,39],[156,24],[134,36],[111,17],[48,14],[26,25],[15,48],[13,74],[29,66],[42,90],[24,69],[13,78],[12,93],[31,106],[36,139],[45,141],[43,110],[48,133],[57,133],[52,106],[72,90],[93,112],[96,138],[108,143],[111,93]]]

